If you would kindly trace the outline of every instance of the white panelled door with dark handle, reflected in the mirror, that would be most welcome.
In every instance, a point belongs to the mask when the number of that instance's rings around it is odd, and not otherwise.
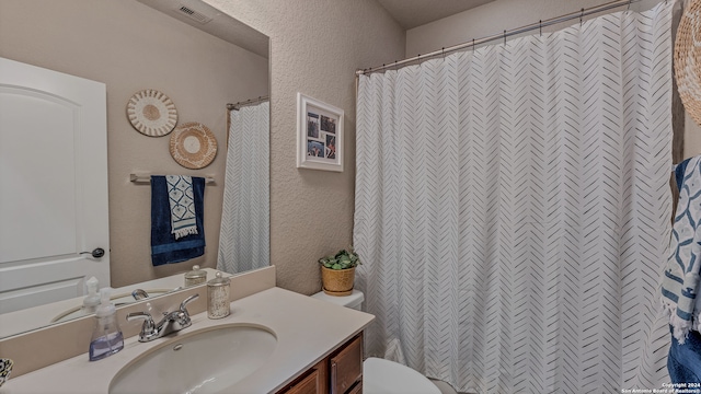
[[[0,313],[110,286],[107,220],[104,83],[0,58]]]

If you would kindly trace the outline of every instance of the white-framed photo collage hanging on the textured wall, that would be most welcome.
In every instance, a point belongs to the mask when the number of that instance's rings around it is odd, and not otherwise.
[[[297,93],[298,169],[343,172],[343,109]]]

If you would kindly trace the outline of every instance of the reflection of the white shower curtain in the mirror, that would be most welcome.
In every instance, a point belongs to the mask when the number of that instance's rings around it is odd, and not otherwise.
[[[229,112],[217,269],[235,274],[269,265],[269,117],[267,102]]]

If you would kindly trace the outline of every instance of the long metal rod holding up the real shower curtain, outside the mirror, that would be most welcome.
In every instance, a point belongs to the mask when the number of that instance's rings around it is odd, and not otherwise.
[[[572,12],[565,15],[561,15],[561,16],[556,16],[556,18],[552,18],[545,21],[540,21],[538,23],[531,23],[529,25],[526,26],[521,26],[518,28],[514,28],[510,31],[504,31],[504,33],[499,33],[499,34],[494,34],[487,37],[482,37],[482,38],[478,38],[478,39],[472,39],[471,42],[467,42],[467,43],[462,43],[462,44],[458,44],[458,45],[453,45],[451,47],[448,48],[441,48],[440,50],[434,50],[429,54],[426,55],[417,55],[414,56],[412,58],[407,58],[404,60],[399,60],[399,61],[394,61],[393,63],[389,63],[389,65],[382,65],[379,67],[371,67],[368,69],[363,69],[363,70],[357,70],[355,72],[356,76],[363,76],[363,74],[368,74],[368,73],[372,73],[372,72],[378,72],[378,71],[382,71],[382,70],[387,70],[389,68],[394,68],[398,66],[403,66],[406,63],[411,63],[414,61],[420,61],[420,60],[425,60],[425,59],[430,59],[434,58],[436,56],[443,56],[446,55],[447,53],[451,53],[451,51],[456,51],[456,50],[460,50],[460,49],[464,49],[464,48],[470,48],[472,47],[472,49],[474,49],[475,45],[481,45],[484,43],[489,43],[489,42],[493,42],[496,39],[504,39],[506,42],[506,37],[513,36],[513,35],[517,35],[517,34],[521,34],[521,33],[526,33],[526,32],[530,32],[530,31],[535,31],[537,28],[541,30],[543,27],[547,26],[551,26],[558,23],[562,23],[562,22],[566,22],[566,21],[571,21],[574,19],[579,19],[579,21],[582,22],[582,20],[584,19],[584,16],[588,16],[590,14],[595,14],[598,12],[604,12],[604,11],[608,11],[614,8],[619,8],[622,5],[631,5],[631,3],[634,2],[639,2],[641,0],[617,0],[617,1],[611,1],[601,5],[597,5],[597,7],[593,7],[590,9],[582,9],[579,11],[576,12]],[[666,2],[667,0],[665,0]]]

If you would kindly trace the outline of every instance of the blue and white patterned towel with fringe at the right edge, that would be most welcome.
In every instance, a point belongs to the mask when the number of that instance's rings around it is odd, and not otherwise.
[[[699,331],[701,298],[697,298],[701,268],[701,157],[675,169],[679,202],[671,230],[670,255],[662,283],[662,301],[673,335],[683,344],[689,331]]]

